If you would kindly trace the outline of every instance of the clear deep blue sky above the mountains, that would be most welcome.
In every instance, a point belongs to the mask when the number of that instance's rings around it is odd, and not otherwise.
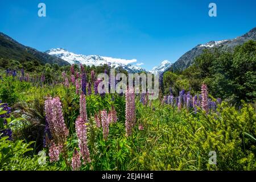
[[[46,3],[39,18],[38,4]],[[208,5],[217,5],[209,17]],[[200,43],[236,38],[256,27],[254,0],[0,0],[0,31],[46,51],[137,59],[152,69]]]

